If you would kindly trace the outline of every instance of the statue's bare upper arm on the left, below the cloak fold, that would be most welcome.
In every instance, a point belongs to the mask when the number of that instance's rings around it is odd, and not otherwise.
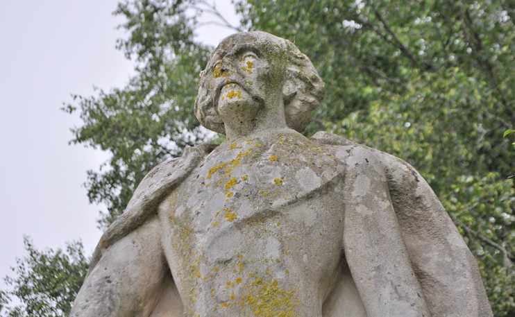
[[[172,306],[164,307],[167,316],[182,316],[160,239],[154,216],[105,250],[88,273],[70,316],[151,316],[164,296]]]

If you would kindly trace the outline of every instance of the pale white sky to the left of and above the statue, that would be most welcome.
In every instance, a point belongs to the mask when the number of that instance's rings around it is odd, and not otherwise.
[[[81,119],[60,108],[72,93],[95,94],[93,85],[127,83],[133,63],[115,49],[125,35],[115,30],[124,20],[111,15],[117,2],[0,0],[0,289],[15,257],[26,255],[23,234],[40,249],[81,238],[88,255],[101,236],[103,206],[88,203],[82,184],[108,155],[69,146]],[[217,7],[238,24],[230,0]],[[216,45],[231,33],[209,25],[199,38]]]

